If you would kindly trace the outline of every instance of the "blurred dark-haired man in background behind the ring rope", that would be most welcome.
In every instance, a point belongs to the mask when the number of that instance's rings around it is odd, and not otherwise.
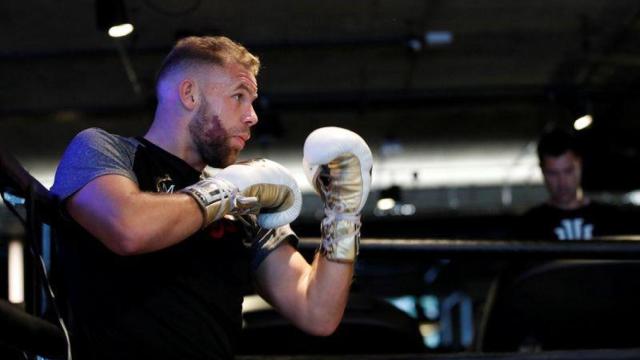
[[[519,237],[591,240],[625,233],[622,208],[593,201],[583,193],[582,157],[571,133],[555,129],[543,134],[538,158],[549,199],[520,219]]]

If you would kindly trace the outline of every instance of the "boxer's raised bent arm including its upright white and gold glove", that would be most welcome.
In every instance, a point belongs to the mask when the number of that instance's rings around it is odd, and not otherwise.
[[[280,246],[258,269],[258,288],[299,328],[329,335],[347,305],[373,158],[360,136],[327,127],[305,140],[303,166],[324,201],[320,251],[309,265],[292,247]]]

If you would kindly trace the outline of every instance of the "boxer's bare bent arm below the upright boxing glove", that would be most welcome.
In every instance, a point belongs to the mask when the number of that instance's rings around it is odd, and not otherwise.
[[[284,317],[315,335],[330,335],[347,304],[353,264],[316,254],[309,265],[290,245],[282,245],[258,267],[258,292]]]

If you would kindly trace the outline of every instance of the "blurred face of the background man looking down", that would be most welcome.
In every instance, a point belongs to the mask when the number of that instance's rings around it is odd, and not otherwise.
[[[570,207],[578,200],[582,179],[582,160],[572,151],[559,156],[545,156],[540,164],[551,202]]]

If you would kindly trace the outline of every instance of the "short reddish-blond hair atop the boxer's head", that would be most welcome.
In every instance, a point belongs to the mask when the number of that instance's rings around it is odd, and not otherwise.
[[[185,37],[176,43],[160,66],[156,77],[156,92],[159,92],[162,80],[176,69],[234,63],[244,66],[253,76],[257,76],[260,70],[260,59],[257,56],[225,36]]]

